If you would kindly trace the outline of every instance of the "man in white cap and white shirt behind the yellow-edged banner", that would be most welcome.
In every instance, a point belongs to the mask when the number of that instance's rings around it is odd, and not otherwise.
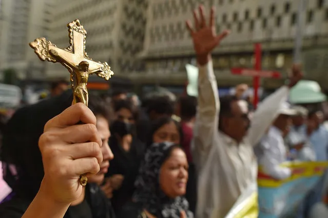
[[[288,103],[282,103],[278,117],[261,141],[263,155],[259,158],[259,165],[263,167],[265,173],[278,180],[284,180],[292,175],[290,168],[281,167],[280,164],[287,160],[284,137],[288,134],[292,125],[292,116],[295,114],[296,111],[291,109]]]

